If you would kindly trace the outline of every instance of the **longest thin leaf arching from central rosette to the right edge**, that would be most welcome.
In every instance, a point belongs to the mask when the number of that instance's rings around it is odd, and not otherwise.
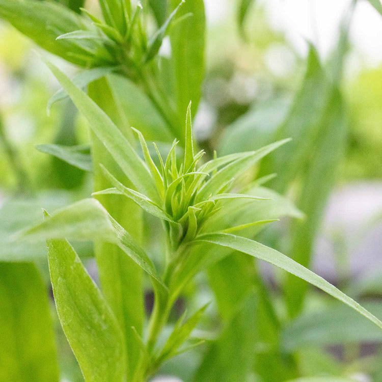
[[[316,275],[311,270],[305,268],[301,264],[298,264],[282,253],[266,247],[266,245],[260,244],[257,241],[247,239],[245,237],[219,232],[200,235],[197,236],[195,240],[205,241],[221,245],[222,247],[231,248],[235,251],[247,253],[248,255],[254,256],[260,260],[264,260],[270,264],[276,265],[279,268],[286,270],[290,274],[307,281],[308,283],[339,299],[344,304],[356,310],[382,329],[382,322],[365,308],[363,308],[360,304],[355,302],[352,298],[341,292],[334,285],[330,284],[322,277]]]

